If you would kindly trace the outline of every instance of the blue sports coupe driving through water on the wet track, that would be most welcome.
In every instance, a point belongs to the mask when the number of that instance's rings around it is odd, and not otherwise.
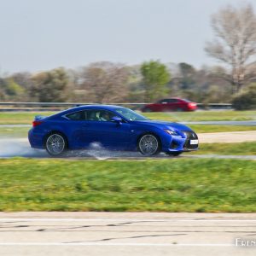
[[[28,133],[31,147],[45,148],[52,156],[90,148],[91,143],[145,155],[176,156],[198,148],[198,137],[188,126],[151,120],[113,105],[79,106],[49,117],[36,116],[32,125]]]

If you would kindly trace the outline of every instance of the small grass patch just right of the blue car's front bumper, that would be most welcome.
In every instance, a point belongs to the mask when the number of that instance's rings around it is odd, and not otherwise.
[[[238,154],[256,155],[256,142],[253,143],[206,143],[200,150],[185,154]]]

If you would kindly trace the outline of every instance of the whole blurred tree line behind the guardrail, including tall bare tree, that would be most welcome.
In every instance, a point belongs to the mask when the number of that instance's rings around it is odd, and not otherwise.
[[[41,73],[0,76],[2,102],[154,102],[178,96],[195,102],[250,102],[256,90],[256,16],[249,4],[212,15],[215,38],[208,55],[218,66],[145,61],[127,66],[109,61]],[[253,97],[253,98],[252,98]],[[252,104],[251,104],[252,105]]]

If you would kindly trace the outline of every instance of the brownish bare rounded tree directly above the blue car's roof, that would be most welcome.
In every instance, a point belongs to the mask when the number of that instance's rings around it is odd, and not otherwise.
[[[89,102],[120,102],[127,95],[127,69],[111,62],[95,62],[82,72],[82,88]]]

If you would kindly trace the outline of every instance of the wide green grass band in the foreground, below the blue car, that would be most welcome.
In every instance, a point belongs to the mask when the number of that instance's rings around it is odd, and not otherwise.
[[[253,160],[0,160],[1,211],[256,212]]]

